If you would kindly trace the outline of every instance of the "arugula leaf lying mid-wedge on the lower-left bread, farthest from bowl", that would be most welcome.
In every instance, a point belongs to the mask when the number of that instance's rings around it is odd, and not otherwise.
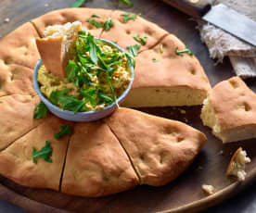
[[[50,143],[48,141],[45,141],[45,146],[39,150],[36,151],[35,147],[32,147],[32,162],[37,163],[37,158],[43,158],[46,162],[53,162],[50,157],[52,157],[53,148],[51,147]]]

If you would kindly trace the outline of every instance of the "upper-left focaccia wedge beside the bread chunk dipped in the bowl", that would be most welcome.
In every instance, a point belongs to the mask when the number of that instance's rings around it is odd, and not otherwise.
[[[0,41],[0,63],[18,64],[33,69],[39,59],[34,41],[38,36],[29,22],[10,32]]]

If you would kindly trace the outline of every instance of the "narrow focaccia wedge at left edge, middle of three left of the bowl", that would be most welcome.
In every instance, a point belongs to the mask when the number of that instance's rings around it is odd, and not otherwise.
[[[6,65],[0,60],[0,97],[8,94],[36,94],[32,86],[32,69]]]

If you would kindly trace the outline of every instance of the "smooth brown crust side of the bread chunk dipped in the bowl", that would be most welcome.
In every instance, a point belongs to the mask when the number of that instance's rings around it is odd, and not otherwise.
[[[66,76],[64,67],[67,66],[62,57],[62,42],[63,37],[36,39],[36,45],[45,68],[59,78],[64,78]]]

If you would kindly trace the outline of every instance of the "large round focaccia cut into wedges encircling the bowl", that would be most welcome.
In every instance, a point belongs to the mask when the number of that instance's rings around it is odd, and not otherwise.
[[[160,186],[171,182],[198,155],[206,140],[203,133],[184,123],[132,109],[121,108],[108,119],[92,123],[74,124],[53,115],[32,119],[33,109],[40,102],[32,89],[32,69],[39,58],[35,39],[42,38],[49,25],[75,20],[82,22],[83,29],[117,42],[123,49],[138,44],[134,36],[147,37],[135,57],[134,86],[125,105],[202,104],[211,86],[195,56],[175,53],[185,44],[140,17],[125,23],[123,13],[96,8],[60,9],[32,19],[0,42],[0,46],[7,47],[6,52],[0,51],[0,174],[26,186],[102,196],[138,184]],[[88,19],[101,25],[111,19],[114,26],[106,31]],[[180,100],[178,96],[186,98]],[[57,140],[54,133],[63,124],[73,126],[73,132]],[[152,132],[147,133],[147,128]],[[37,164],[32,163],[32,146],[38,150],[45,141],[52,145],[53,162],[39,159]]]

